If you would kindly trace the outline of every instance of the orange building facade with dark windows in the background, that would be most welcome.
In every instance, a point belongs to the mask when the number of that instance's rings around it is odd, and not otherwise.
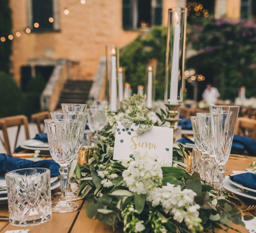
[[[50,72],[51,62],[64,58],[79,63],[77,79],[91,80],[107,44],[124,47],[148,27],[166,25],[168,8],[186,5],[186,0],[10,0],[10,72],[21,85],[22,75],[35,76],[44,66]],[[241,0],[215,0],[215,16],[239,18],[240,7]]]

